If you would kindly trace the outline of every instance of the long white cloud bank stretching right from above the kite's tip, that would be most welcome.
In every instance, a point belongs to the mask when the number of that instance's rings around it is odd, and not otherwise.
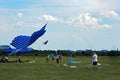
[[[99,18],[93,17],[90,13],[81,13],[77,17],[69,18],[69,19],[62,19],[58,17],[54,17],[52,15],[43,15],[38,17],[40,20],[45,21],[52,21],[52,22],[62,22],[68,24],[69,26],[78,27],[81,29],[104,29],[104,28],[112,28],[112,26],[108,24],[100,24],[102,21]]]

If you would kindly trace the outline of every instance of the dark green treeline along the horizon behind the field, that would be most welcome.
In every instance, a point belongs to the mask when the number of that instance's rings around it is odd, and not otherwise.
[[[40,56],[40,57],[45,57],[47,55],[50,55],[51,53],[53,54],[62,54],[63,56],[92,56],[93,52],[96,52],[97,55],[99,56],[120,56],[120,51],[118,50],[104,50],[104,51],[92,51],[92,50],[77,50],[77,51],[72,51],[72,50],[34,50],[31,53],[16,53],[14,55],[23,55],[23,56]],[[0,56],[4,55],[9,55],[9,53],[3,53],[0,51]],[[11,55],[11,56],[14,56]]]

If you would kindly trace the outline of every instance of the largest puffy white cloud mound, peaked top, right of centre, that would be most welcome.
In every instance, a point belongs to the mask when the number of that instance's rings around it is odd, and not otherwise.
[[[96,17],[91,16],[90,13],[82,13],[78,17],[74,17],[67,21],[67,24],[72,26],[77,26],[79,28],[85,29],[103,29],[103,28],[112,28],[112,26],[108,24],[101,25],[99,20]]]

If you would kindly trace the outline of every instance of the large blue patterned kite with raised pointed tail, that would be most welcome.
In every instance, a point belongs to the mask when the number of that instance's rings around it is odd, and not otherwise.
[[[40,30],[34,32],[31,36],[20,35],[15,37],[11,43],[11,45],[15,47],[15,49],[12,50],[10,55],[15,54],[17,52],[29,51],[27,47],[33,44],[39,37],[41,37],[46,32],[46,25],[47,24],[45,24]]]

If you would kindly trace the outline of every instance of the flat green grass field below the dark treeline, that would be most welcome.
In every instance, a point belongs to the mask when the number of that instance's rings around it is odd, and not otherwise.
[[[45,62],[45,58],[35,57],[35,63],[0,63],[0,80],[120,80],[120,57],[99,57],[101,64],[98,70],[93,70],[91,57],[75,57],[72,64],[77,68],[63,66],[67,57],[60,64],[55,61]],[[16,60],[16,58],[10,58]],[[32,60],[32,57],[22,57],[22,60]]]

